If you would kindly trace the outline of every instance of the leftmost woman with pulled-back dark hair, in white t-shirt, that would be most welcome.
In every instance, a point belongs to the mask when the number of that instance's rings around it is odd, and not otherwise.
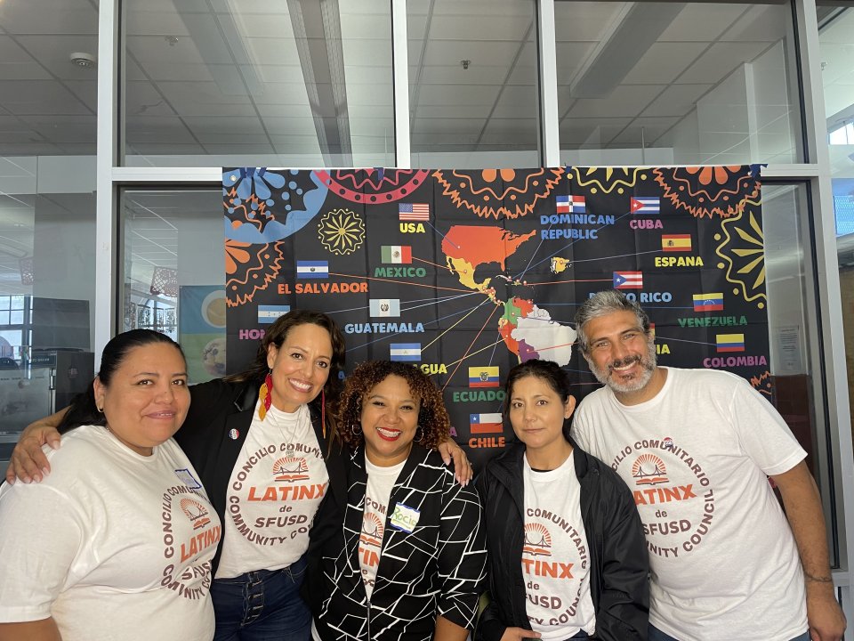
[[[210,641],[220,519],[172,435],[181,347],[113,338],[60,425],[44,483],[0,489],[0,641]]]

